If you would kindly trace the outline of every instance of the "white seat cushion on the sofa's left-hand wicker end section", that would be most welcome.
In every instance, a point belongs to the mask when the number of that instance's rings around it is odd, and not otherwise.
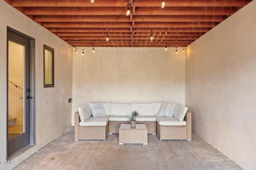
[[[100,117],[90,117],[87,121],[79,122],[80,126],[106,126],[108,123],[109,115],[100,116]]]

